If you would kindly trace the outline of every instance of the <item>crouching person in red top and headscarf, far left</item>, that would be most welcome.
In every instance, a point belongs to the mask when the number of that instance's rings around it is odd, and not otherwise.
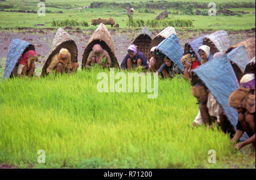
[[[35,70],[35,61],[38,61],[39,55],[34,50],[28,50],[18,61],[17,75],[19,77],[32,77]]]

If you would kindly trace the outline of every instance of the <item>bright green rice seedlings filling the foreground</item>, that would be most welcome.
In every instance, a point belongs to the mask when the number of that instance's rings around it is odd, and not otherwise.
[[[101,71],[0,82],[0,164],[227,168],[226,158],[234,155],[228,135],[192,126],[198,105],[189,83],[159,80],[155,99],[147,93],[99,93]],[[37,162],[39,149],[46,151],[46,164]],[[208,163],[209,149],[217,153],[214,165]]]

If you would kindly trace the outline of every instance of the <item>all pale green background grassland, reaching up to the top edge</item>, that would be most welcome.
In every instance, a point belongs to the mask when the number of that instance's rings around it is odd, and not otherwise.
[[[176,0],[175,0],[176,1]],[[181,0],[187,1],[187,0]],[[35,24],[44,24],[44,27],[51,27],[51,22],[61,21],[65,19],[76,20],[77,22],[86,21],[89,23],[93,18],[109,18],[112,16],[115,23],[119,24],[120,28],[127,28],[126,22],[128,16],[125,9],[123,8],[89,8],[82,10],[69,10],[71,7],[83,7],[88,6],[93,1],[46,1],[46,9],[53,13],[46,13],[46,16],[38,16],[37,14],[26,14],[21,12],[0,12],[0,27],[2,28],[17,28],[17,27],[34,27]],[[101,2],[101,1],[98,1]],[[103,2],[103,1],[102,1]],[[123,2],[123,1],[104,1],[104,2]],[[127,1],[133,2],[133,1]],[[138,1],[134,1],[138,2]],[[198,0],[198,2],[211,2],[205,0]],[[231,2],[230,0],[224,1],[214,1],[216,3],[220,2]],[[241,2],[241,1],[232,1]],[[245,0],[244,2],[254,2],[251,0]],[[11,9],[24,9],[24,10],[38,10],[36,6],[38,1],[14,1],[9,0],[6,2],[1,2],[3,5],[13,5],[14,8]],[[71,6],[71,7],[69,7]],[[217,7],[218,10],[218,7]],[[240,10],[255,12],[255,8],[230,8],[230,10]],[[57,12],[63,11],[63,14]],[[163,10],[154,10],[155,14],[149,13],[139,13],[138,9],[135,9],[135,14],[133,14],[134,19],[143,19],[144,21],[154,19]],[[176,9],[169,9],[168,11],[176,12]],[[195,11],[195,9],[193,9]],[[169,14],[167,20],[172,19],[189,19],[193,20],[192,29],[214,29],[214,30],[245,30],[255,27],[255,14],[243,14],[242,16],[203,16],[203,15],[179,15],[179,14]],[[110,25],[108,25],[110,27]],[[37,27],[41,28],[41,27]],[[89,29],[90,27],[82,27],[81,29]]]

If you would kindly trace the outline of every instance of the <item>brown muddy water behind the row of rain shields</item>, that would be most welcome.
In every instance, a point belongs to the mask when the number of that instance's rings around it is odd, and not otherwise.
[[[73,29],[65,29],[75,40],[78,48],[78,60],[81,66],[82,61],[82,54],[84,53],[85,46],[89,41],[90,36],[92,35],[93,31],[83,31],[77,32]],[[40,75],[42,71],[42,67],[44,62],[47,59],[47,56],[50,51],[51,41],[55,36],[56,31],[50,29],[43,29],[43,30],[36,30],[36,29],[23,29],[22,31],[1,31],[0,32],[0,65],[2,67],[5,66],[6,57],[9,50],[9,45],[12,38],[20,38],[31,44],[35,45],[36,53],[41,55],[39,63],[36,63],[36,74]],[[134,40],[137,36],[138,32],[131,32],[131,31],[122,31],[122,32],[115,32],[110,30],[110,34],[112,35],[115,54],[117,55],[118,62],[121,63],[122,59],[125,57],[127,53],[127,47],[130,43]],[[152,32],[153,37],[159,33],[158,31]],[[212,32],[177,32],[177,36],[180,39],[180,44],[184,47],[185,42],[191,41],[193,38],[197,38],[203,36],[207,33]],[[229,32],[230,37],[230,45],[237,44],[240,41],[246,40],[248,37],[255,37],[255,32]]]

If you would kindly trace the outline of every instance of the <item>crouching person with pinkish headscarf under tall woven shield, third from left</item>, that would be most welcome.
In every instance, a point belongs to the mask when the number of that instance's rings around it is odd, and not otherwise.
[[[112,61],[109,53],[101,47],[100,44],[96,44],[89,53],[85,67],[92,68],[92,65],[99,65],[102,67],[112,67]]]

